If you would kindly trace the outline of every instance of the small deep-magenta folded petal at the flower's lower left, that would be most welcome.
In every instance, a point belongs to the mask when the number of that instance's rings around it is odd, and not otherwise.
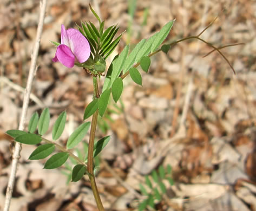
[[[52,58],[53,62],[60,61],[65,67],[73,68],[75,62],[75,56],[67,45],[58,45],[56,55]]]

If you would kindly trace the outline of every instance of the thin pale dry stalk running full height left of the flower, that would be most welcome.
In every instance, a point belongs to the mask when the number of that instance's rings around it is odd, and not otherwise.
[[[42,31],[43,31],[43,21],[44,21],[46,4],[47,4],[47,0],[42,0],[42,2],[40,2],[40,17],[39,17],[37,33],[36,33],[36,43],[35,43],[35,47],[34,47],[34,50],[32,52],[32,56],[31,56],[31,65],[30,65],[30,69],[29,69],[27,87],[24,90],[21,121],[19,122],[19,127],[18,127],[19,130],[24,129],[24,123],[25,123],[26,116],[27,116],[32,81],[33,81],[33,78],[35,75],[35,70],[36,70],[36,59],[38,56],[38,50],[40,47],[40,39],[41,39]],[[14,189],[14,182],[15,182],[15,176],[16,176],[16,172],[17,172],[17,165],[18,165],[20,152],[21,152],[21,144],[16,142],[14,154],[12,156],[11,172],[10,172],[10,177],[9,177],[9,181],[8,181],[8,186],[6,189],[6,197],[5,197],[3,211],[8,211],[9,207],[10,207],[11,196],[12,196],[12,191]]]

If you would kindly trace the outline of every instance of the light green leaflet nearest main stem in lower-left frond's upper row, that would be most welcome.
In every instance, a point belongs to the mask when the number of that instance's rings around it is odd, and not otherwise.
[[[79,142],[82,141],[83,137],[87,134],[90,127],[90,122],[84,122],[75,129],[75,131],[70,135],[67,142],[67,149],[74,148]]]

